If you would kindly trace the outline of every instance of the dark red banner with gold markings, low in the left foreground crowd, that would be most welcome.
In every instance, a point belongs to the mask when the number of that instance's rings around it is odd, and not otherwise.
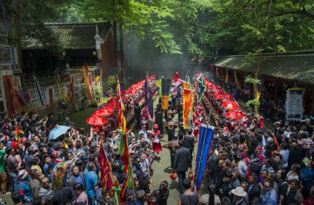
[[[106,153],[104,151],[104,147],[101,144],[100,146],[100,158],[99,158],[99,163],[100,163],[100,184],[101,184],[101,190],[102,192],[105,192],[107,188],[112,189],[112,182],[110,179],[110,170],[111,170],[111,165],[110,162],[106,156]]]

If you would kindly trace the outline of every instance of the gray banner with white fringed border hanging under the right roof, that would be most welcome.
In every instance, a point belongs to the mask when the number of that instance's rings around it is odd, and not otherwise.
[[[303,94],[302,88],[289,88],[286,93],[286,120],[300,121],[303,116]]]

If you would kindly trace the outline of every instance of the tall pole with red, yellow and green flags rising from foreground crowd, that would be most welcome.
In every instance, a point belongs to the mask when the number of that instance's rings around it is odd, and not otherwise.
[[[122,161],[124,161],[124,172],[128,174],[128,179],[131,181],[129,182],[129,185],[132,185],[133,188],[133,196],[135,198],[135,187],[134,187],[134,182],[133,182],[133,177],[132,177],[132,163],[131,163],[131,158],[130,158],[130,153],[128,149],[128,143],[127,143],[127,128],[126,128],[126,121],[125,117],[123,115],[123,110],[124,110],[124,105],[122,104],[122,99],[121,99],[121,88],[120,88],[120,82],[117,77],[117,122],[118,122],[118,129],[122,130],[122,137],[120,139],[120,145],[119,145],[119,150],[118,154],[122,155]]]

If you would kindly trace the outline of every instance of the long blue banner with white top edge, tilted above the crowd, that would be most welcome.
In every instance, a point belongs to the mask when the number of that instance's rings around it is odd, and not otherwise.
[[[209,147],[213,139],[213,134],[214,127],[207,126],[205,124],[201,125],[201,134],[198,142],[198,151],[196,155],[196,168],[194,175],[194,185],[197,190],[199,190],[201,186],[207,162]]]

